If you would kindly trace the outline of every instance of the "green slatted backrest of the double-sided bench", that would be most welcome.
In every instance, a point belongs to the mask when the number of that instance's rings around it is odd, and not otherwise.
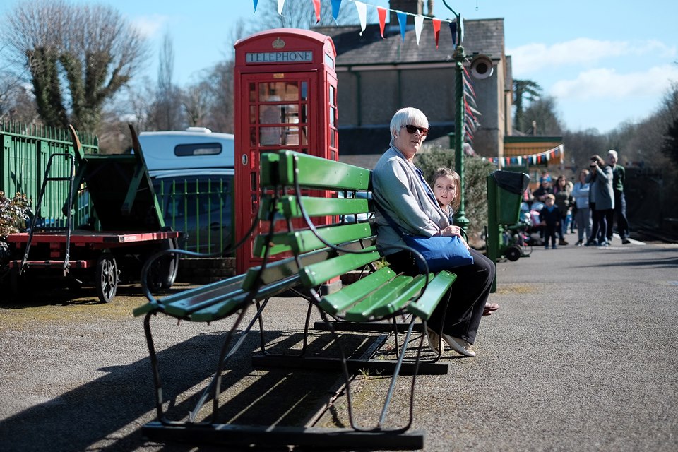
[[[381,257],[370,221],[374,210],[369,169],[280,151],[261,156],[260,181],[258,220],[263,228],[254,241],[254,254],[290,255],[265,265],[264,273],[272,268],[287,275],[298,273],[304,286],[316,287]],[[328,217],[333,218],[331,224],[326,224]],[[309,222],[319,226],[313,230]],[[248,270],[245,290],[258,280],[260,271],[261,266]]]

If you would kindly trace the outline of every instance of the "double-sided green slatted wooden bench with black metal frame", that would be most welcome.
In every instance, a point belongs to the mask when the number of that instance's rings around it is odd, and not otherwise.
[[[373,222],[374,206],[369,199],[371,172],[368,169],[333,162],[292,151],[261,155],[261,202],[258,222],[261,231],[254,241],[254,253],[263,258],[261,266],[249,268],[244,275],[184,290],[163,299],[155,299],[145,291],[148,303],[134,310],[135,316],[145,315],[144,329],[156,388],[158,420],[143,427],[145,436],[156,440],[209,441],[225,444],[304,445],[352,448],[422,448],[424,434],[412,431],[412,404],[415,378],[410,387],[409,421],[403,427],[384,426],[388,405],[391,402],[398,374],[415,375],[425,365],[439,366],[438,372],[447,371],[446,364],[422,362],[424,334],[420,336],[415,353],[407,353],[412,331],[417,320],[426,321],[456,279],[446,271],[437,275],[410,277],[398,275],[380,265],[383,256],[376,249],[376,225]],[[328,196],[329,195],[329,196]],[[327,224],[328,218],[333,219]],[[317,226],[314,225],[316,220]],[[270,225],[275,225],[270,227]],[[254,227],[253,227],[254,230]],[[169,251],[174,252],[174,251]],[[177,251],[182,252],[182,251]],[[273,256],[286,256],[279,260]],[[340,290],[326,294],[321,287],[345,273],[362,270],[364,278],[345,285]],[[355,424],[349,413],[350,428],[314,429],[309,427],[251,427],[216,424],[215,414],[221,388],[224,363],[237,352],[244,336],[258,321],[263,330],[262,315],[270,297],[295,290],[309,300],[304,328],[302,350],[295,355],[273,355],[266,350],[261,334],[261,350],[257,364],[332,367],[342,369],[346,379],[350,403],[351,375],[357,369],[388,370],[393,374],[376,427],[364,428]],[[445,299],[446,302],[448,301]],[[256,313],[234,341],[238,328],[246,319],[250,307]],[[402,326],[396,319],[409,319],[405,339],[397,359],[351,360],[340,357],[304,356],[311,309],[316,307],[333,338],[339,342],[333,325],[337,323],[374,323],[387,321],[393,328]],[[162,313],[177,319],[194,322],[212,322],[234,316],[232,329],[225,333],[217,369],[212,381],[204,390],[198,405],[186,422],[173,422],[165,417],[162,408],[162,381],[158,368],[150,319]],[[420,325],[420,323],[417,323]],[[369,328],[368,328],[369,329]],[[234,344],[232,344],[234,342]],[[416,343],[416,341],[415,341]],[[396,345],[396,347],[398,347]],[[415,355],[412,357],[412,355]],[[254,362],[254,359],[253,359]],[[404,370],[405,369],[405,370]],[[198,422],[198,410],[212,400],[213,410],[207,420]],[[199,432],[199,434],[198,434]]]

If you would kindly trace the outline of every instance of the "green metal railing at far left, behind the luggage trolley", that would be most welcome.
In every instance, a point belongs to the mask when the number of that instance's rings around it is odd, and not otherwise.
[[[97,136],[88,133],[78,133],[83,143],[85,153],[99,153]],[[73,143],[69,131],[35,124],[0,123],[0,190],[6,196],[16,193],[26,194],[32,201],[35,211],[35,202],[40,194],[40,187],[44,178],[49,156],[56,153],[73,154]],[[69,174],[70,162],[62,159],[52,165],[53,177],[66,177]],[[75,217],[73,224],[80,225],[88,220],[90,206],[88,197],[84,195],[84,186],[78,187],[76,198]],[[41,216],[47,222],[59,223],[64,215],[61,208],[68,197],[68,184],[47,184],[42,201]]]

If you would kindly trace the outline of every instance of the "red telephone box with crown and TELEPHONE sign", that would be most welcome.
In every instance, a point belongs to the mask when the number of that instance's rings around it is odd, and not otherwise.
[[[318,32],[278,28],[235,44],[235,233],[258,211],[261,153],[290,149],[338,160],[336,51]],[[261,263],[253,239],[236,255],[237,272]]]

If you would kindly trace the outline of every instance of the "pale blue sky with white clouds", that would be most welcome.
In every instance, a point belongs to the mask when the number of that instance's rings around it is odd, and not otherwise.
[[[4,0],[0,13],[19,1]],[[311,0],[285,0],[285,8],[301,1]],[[571,131],[606,133],[624,122],[641,121],[660,108],[671,83],[678,82],[676,0],[446,1],[463,18],[504,18],[513,78],[535,81],[545,95],[553,96],[559,117]],[[152,80],[157,78],[162,39],[169,32],[174,80],[180,86],[232,52],[230,30],[239,19],[258,20],[263,9],[272,7],[268,0],[258,0],[256,13],[253,0],[92,3],[114,6],[148,37],[153,56],[145,73]],[[368,11],[388,8],[388,0],[364,3]],[[434,3],[436,17],[453,18],[442,0]],[[331,8],[331,1],[322,0],[322,7]],[[341,8],[350,9],[357,23],[352,1],[342,0]]]

